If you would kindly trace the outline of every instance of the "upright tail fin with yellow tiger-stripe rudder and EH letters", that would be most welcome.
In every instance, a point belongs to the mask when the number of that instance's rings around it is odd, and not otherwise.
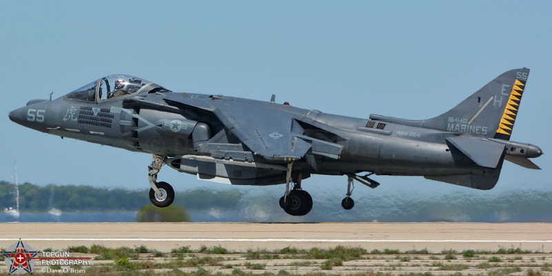
[[[528,76],[527,68],[504,72],[455,108],[424,120],[422,125],[509,140]]]

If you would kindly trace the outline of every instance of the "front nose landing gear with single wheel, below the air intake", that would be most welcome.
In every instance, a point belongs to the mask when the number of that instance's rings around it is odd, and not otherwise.
[[[148,166],[148,178],[150,180],[150,201],[157,207],[167,207],[175,200],[175,190],[166,182],[157,182],[157,173],[163,166],[164,157],[153,155],[153,161]]]

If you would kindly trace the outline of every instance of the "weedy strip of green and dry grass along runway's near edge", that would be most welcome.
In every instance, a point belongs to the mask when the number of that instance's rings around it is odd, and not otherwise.
[[[515,249],[431,253],[386,248],[368,253],[362,248],[337,246],[228,253],[215,246],[161,253],[145,246],[78,246],[68,250],[71,257],[91,257],[92,266],[41,266],[37,262],[34,275],[552,275],[552,253]],[[52,270],[57,273],[48,273]],[[2,273],[7,274],[6,266],[0,266]]]

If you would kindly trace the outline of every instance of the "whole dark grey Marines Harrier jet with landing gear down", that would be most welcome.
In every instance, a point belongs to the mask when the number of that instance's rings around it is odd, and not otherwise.
[[[233,185],[286,184],[280,206],[306,215],[302,189],[312,174],[345,175],[345,209],[353,181],[375,188],[371,175],[417,175],[489,190],[504,159],[539,169],[538,146],[510,141],[529,69],[500,75],[433,119],[381,115],[356,119],[270,101],[171,92],[145,79],[110,75],[55,100],[32,100],[10,112],[17,124],[153,155],[150,200],[166,207],[175,192],[157,182],[161,165]],[[365,175],[364,175],[365,174]]]

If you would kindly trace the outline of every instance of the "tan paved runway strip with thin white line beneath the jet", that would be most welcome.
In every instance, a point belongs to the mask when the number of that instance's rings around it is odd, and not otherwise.
[[[362,246],[433,253],[498,250],[500,247],[552,252],[552,224],[486,223],[4,223],[0,248],[21,238],[34,250],[99,244],[109,248],[144,245],[161,252],[190,246],[222,246],[230,251]]]

